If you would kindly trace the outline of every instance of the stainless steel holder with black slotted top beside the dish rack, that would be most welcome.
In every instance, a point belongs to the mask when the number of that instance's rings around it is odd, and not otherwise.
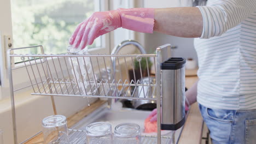
[[[177,130],[185,123],[185,59],[161,63],[161,129]]]

